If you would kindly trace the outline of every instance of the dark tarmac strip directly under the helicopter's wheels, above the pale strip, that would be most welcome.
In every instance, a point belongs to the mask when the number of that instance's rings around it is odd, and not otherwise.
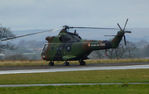
[[[1,70],[26,70],[26,69],[55,69],[55,68],[78,68],[78,67],[108,67],[108,66],[129,66],[129,65],[149,65],[149,62],[129,62],[129,63],[96,63],[96,64],[86,64],[85,66],[80,66],[79,64],[71,64],[70,66],[55,65],[55,66],[6,66],[0,67]]]

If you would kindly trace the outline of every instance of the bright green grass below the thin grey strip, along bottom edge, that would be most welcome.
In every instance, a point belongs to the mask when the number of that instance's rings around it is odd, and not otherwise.
[[[0,94],[149,94],[149,85],[13,87]]]

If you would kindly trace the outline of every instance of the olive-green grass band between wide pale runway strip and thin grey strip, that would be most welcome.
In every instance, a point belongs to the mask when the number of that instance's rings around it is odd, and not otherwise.
[[[148,69],[0,75],[0,84],[149,82]]]

